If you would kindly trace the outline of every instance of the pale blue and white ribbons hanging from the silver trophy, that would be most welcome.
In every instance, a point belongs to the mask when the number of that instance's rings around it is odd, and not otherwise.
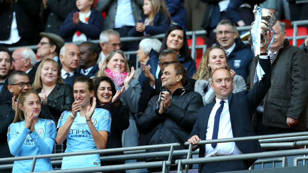
[[[251,39],[253,43],[253,52],[254,56],[256,57],[257,55],[260,54],[260,42],[261,42],[261,19],[262,19],[262,11],[259,6],[255,6],[256,14],[255,14],[255,21],[253,23],[253,26],[251,28],[250,34],[251,34]],[[273,30],[273,29],[272,29]],[[270,41],[269,46],[267,47],[267,50],[269,50],[271,44],[274,41],[274,30],[273,30],[273,38]],[[264,70],[260,66],[260,63],[258,61],[257,66],[256,66],[256,72],[254,75],[253,83],[261,80],[263,75],[265,74]]]

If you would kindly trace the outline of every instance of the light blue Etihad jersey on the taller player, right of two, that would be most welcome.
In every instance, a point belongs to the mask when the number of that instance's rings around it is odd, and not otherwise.
[[[59,119],[57,131],[69,118],[71,111],[64,111]],[[107,131],[110,134],[111,115],[105,109],[96,108],[92,115],[92,123],[97,131]],[[93,141],[86,117],[77,112],[76,118],[67,135],[65,152],[97,150]],[[100,166],[99,154],[63,157],[61,169]]]

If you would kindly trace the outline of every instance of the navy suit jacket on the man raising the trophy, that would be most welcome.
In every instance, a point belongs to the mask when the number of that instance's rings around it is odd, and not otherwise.
[[[241,91],[228,96],[230,121],[233,137],[255,136],[255,132],[251,125],[254,111],[265,97],[271,86],[270,78],[270,59],[260,59],[260,65],[265,74],[260,82],[250,91]],[[206,131],[209,121],[209,115],[216,101],[201,107],[197,113],[197,120],[193,127],[193,131],[189,138],[198,135],[201,140],[205,140]],[[239,107],[240,106],[240,107]],[[235,142],[238,149],[244,153],[261,152],[261,146],[258,140],[238,141]],[[204,157],[205,145],[200,145],[199,157]],[[250,167],[255,160],[247,160],[245,164]],[[199,165],[199,171],[202,165]]]

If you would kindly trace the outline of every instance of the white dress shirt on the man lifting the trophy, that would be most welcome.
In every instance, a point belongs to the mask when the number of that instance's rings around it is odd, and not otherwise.
[[[212,139],[215,114],[221,105],[220,101],[221,101],[220,99],[216,98],[216,103],[213,106],[211,114],[209,116],[205,140]],[[228,99],[224,101],[225,101],[224,107],[222,109],[219,120],[217,139],[233,138]],[[205,157],[217,156],[217,155],[238,155],[238,154],[243,154],[243,153],[237,148],[235,142],[217,143],[215,148],[213,148],[211,144],[205,144]]]

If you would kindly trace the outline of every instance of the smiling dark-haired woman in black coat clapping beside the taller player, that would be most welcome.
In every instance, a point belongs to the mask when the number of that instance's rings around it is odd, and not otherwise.
[[[111,114],[111,128],[110,135],[106,143],[106,149],[108,148],[122,148],[122,133],[129,127],[129,110],[128,107],[123,106],[120,101],[120,96],[124,91],[124,86],[121,90],[115,90],[115,84],[113,81],[102,76],[95,78],[95,96],[98,99],[96,108],[103,108]],[[123,152],[116,153],[103,153],[101,156],[109,155],[123,155]],[[101,165],[121,165],[124,164],[124,160],[104,162]],[[114,173],[125,173],[125,171],[113,171]]]

